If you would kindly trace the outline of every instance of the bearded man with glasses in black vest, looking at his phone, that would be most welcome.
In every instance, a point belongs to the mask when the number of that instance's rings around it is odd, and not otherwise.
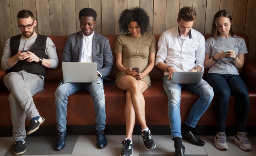
[[[14,154],[21,155],[26,151],[26,134],[33,133],[44,122],[32,96],[43,90],[45,68],[57,68],[59,60],[51,39],[35,32],[37,20],[33,13],[21,10],[17,17],[22,34],[6,41],[1,67],[3,70],[11,70],[4,77],[4,85],[10,91],[8,100],[15,141]],[[27,133],[25,118],[30,120]]]

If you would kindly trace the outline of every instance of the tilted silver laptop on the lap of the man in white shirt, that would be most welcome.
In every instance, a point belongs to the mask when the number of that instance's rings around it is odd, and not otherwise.
[[[191,72],[191,71],[174,71],[172,73],[172,80],[171,83],[176,84],[196,84],[200,83],[202,80],[204,72]]]

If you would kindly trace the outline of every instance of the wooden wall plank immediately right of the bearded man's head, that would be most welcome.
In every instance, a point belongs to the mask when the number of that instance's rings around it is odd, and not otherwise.
[[[49,1],[36,0],[38,33],[51,36]]]

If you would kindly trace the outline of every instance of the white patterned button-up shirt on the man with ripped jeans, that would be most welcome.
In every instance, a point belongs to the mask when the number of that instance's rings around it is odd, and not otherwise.
[[[200,66],[204,71],[205,62],[205,38],[194,29],[184,39],[181,37],[178,27],[166,30],[160,36],[157,44],[155,65],[164,62],[171,65],[177,71],[190,71],[195,66]],[[168,71],[164,71],[168,75]]]

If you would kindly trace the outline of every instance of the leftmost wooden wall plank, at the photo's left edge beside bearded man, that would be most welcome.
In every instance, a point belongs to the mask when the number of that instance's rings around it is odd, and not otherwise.
[[[7,41],[7,39],[13,36],[9,0],[1,0],[0,20],[1,20],[0,22],[0,30],[1,30],[0,31],[0,41],[1,41],[0,56],[2,56],[5,42]]]

